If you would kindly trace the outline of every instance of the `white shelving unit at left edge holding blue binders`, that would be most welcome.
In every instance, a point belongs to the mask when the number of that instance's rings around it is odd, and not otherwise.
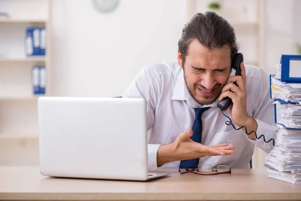
[[[51,0],[0,0],[0,12],[9,14],[0,19],[0,165],[38,165],[37,99],[51,95],[50,8]],[[36,26],[46,28],[46,53],[29,57],[26,28]],[[45,66],[46,94],[33,92],[35,65]]]

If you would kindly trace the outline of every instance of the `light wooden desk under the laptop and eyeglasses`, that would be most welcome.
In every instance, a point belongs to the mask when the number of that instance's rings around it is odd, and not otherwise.
[[[170,170],[168,170],[170,171]],[[3,200],[301,200],[301,185],[234,169],[231,175],[171,175],[155,180],[111,181],[42,176],[37,167],[0,167]]]

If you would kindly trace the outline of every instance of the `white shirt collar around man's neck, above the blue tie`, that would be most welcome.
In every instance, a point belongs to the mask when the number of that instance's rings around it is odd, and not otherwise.
[[[232,73],[231,75],[232,76]],[[198,104],[193,97],[190,95],[186,83],[185,83],[185,79],[184,79],[184,71],[181,68],[181,71],[178,75],[176,84],[175,84],[175,88],[173,91],[173,95],[172,95],[172,100],[186,100],[186,103],[189,107],[191,108],[202,108],[202,107],[217,107],[217,104],[219,103],[219,99],[216,99],[215,102],[213,102],[210,105],[206,105],[206,106],[202,106],[200,104]]]

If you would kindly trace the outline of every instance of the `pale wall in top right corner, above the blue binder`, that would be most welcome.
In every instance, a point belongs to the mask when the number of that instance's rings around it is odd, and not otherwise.
[[[265,69],[273,74],[281,54],[296,54],[301,43],[301,1],[266,0],[265,8]]]

